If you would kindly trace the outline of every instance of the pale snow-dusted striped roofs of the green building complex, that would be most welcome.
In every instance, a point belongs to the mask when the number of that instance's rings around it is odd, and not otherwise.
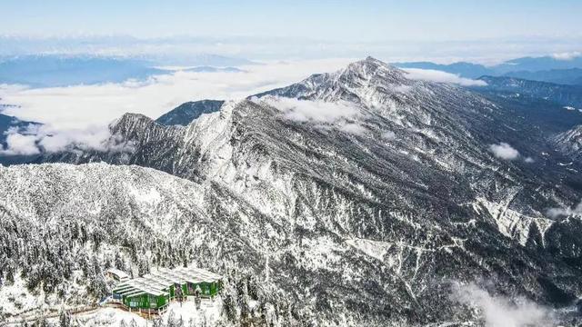
[[[113,292],[125,296],[144,293],[156,296],[167,295],[167,289],[176,283],[218,282],[222,278],[219,274],[199,268],[160,268],[155,272],[146,274],[144,277],[119,283]]]

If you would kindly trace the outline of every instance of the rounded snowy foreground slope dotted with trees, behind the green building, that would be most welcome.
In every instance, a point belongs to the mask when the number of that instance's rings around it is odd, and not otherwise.
[[[258,253],[280,233],[246,203],[233,207],[236,198],[226,190],[137,166],[0,166],[0,194],[0,321],[4,314],[100,300],[112,265],[142,275],[154,264],[194,263],[233,278],[233,269],[259,267]],[[266,230],[269,240],[246,237]],[[10,296],[17,276],[26,288]],[[291,306],[263,288],[276,311]]]

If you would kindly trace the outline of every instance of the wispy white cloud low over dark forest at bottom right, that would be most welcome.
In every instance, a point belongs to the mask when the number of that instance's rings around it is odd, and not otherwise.
[[[454,283],[453,301],[477,307],[487,327],[523,327],[554,325],[552,312],[525,298],[492,296],[475,283]]]

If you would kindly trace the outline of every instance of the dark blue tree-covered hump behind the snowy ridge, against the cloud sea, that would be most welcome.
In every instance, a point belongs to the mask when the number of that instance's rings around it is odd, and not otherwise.
[[[224,101],[200,100],[178,105],[175,109],[156,119],[159,124],[186,126],[201,114],[215,113]]]

